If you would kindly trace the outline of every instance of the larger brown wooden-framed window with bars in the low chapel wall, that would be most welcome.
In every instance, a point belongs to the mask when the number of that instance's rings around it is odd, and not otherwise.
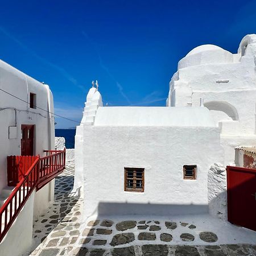
[[[144,192],[144,168],[125,168],[125,191]]]

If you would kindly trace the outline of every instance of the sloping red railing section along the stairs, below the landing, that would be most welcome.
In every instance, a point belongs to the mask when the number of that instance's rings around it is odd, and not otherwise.
[[[39,157],[35,156],[35,161],[32,163],[30,168],[19,183],[16,185],[11,195],[5,201],[5,203],[0,208],[0,242],[2,241],[3,237],[9,230],[11,224],[13,224],[15,218],[18,216],[20,210],[30,197],[31,193],[38,185],[39,181]]]

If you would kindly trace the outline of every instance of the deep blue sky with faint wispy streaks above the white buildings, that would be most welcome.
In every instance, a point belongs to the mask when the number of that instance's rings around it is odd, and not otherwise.
[[[192,48],[235,53],[253,33],[256,1],[1,1],[0,59],[49,84],[55,112],[80,121],[92,80],[109,106],[164,106]]]

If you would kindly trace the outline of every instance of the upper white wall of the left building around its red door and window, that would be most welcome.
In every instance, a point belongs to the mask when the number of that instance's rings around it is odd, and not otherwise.
[[[0,88],[29,102],[30,93],[36,94],[36,105],[54,113],[53,97],[49,86],[42,84],[0,60]],[[34,155],[44,155],[43,150],[54,149],[54,118],[40,109],[9,94],[0,92],[0,193],[7,185],[6,157],[20,155],[21,125],[35,125]],[[9,127],[16,126],[14,138],[9,139]]]

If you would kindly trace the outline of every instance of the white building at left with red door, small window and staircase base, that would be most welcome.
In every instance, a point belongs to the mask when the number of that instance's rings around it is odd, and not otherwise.
[[[49,112],[54,113],[49,86],[0,60],[0,209],[14,189],[7,186],[7,156],[44,156],[44,150],[54,150],[54,117]],[[54,180],[32,192],[0,243],[0,255],[20,255],[30,247],[33,219],[53,199]]]

